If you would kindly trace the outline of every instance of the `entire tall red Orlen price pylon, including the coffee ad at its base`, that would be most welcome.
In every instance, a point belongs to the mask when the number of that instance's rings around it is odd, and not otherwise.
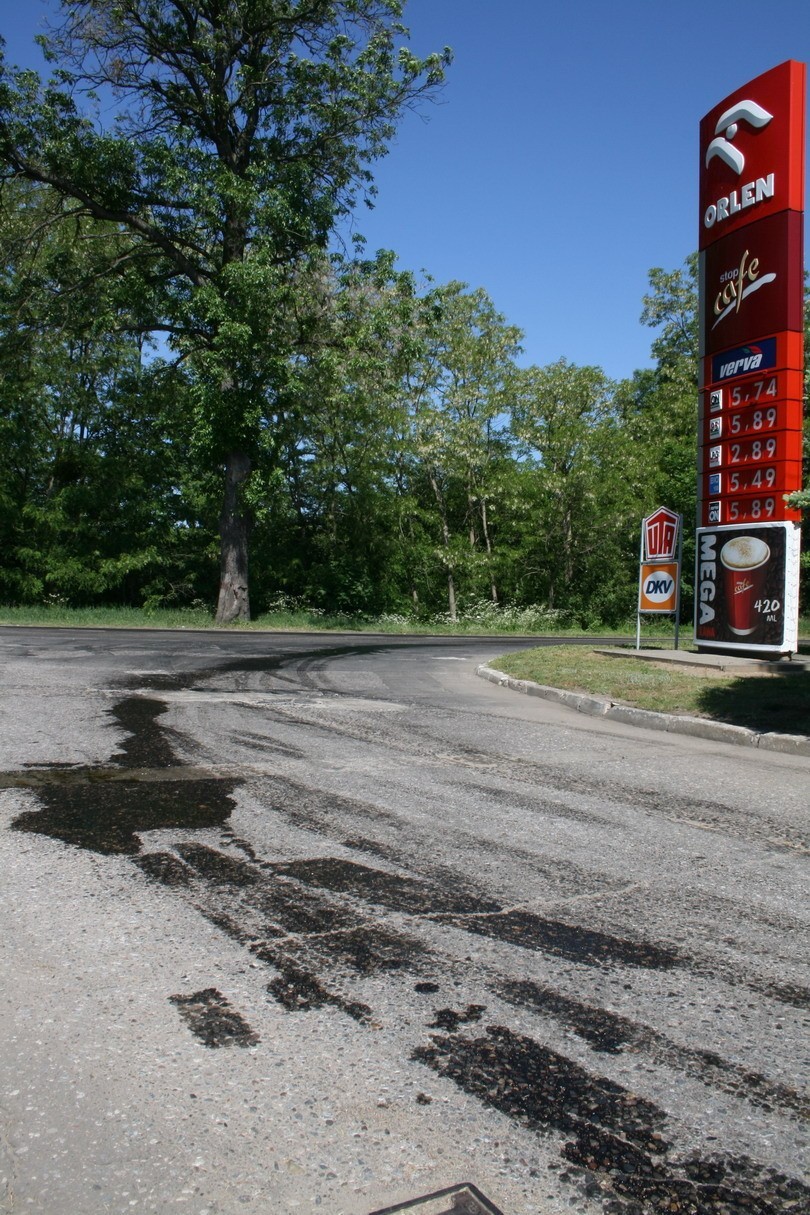
[[[698,645],[798,644],[805,66],[701,123]]]

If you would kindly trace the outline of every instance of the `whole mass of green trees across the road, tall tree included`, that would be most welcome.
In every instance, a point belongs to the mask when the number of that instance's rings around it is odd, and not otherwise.
[[[525,367],[483,289],[330,252],[449,62],[400,0],[64,10],[0,77],[2,598],[625,620],[641,516],[695,524],[695,260],[652,369]]]

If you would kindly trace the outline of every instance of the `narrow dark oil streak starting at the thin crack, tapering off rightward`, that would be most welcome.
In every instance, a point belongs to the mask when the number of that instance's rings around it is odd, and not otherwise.
[[[682,962],[681,955],[667,945],[613,937],[593,928],[583,928],[580,925],[546,920],[532,911],[503,911],[498,915],[481,916],[436,915],[431,919],[481,937],[493,937],[510,945],[520,945],[522,949],[582,962],[584,966],[618,963],[646,970],[670,970]]]

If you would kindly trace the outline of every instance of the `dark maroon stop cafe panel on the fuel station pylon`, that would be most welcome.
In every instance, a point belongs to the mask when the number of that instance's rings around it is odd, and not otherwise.
[[[804,328],[803,216],[782,211],[716,241],[703,254],[701,352],[774,329]]]

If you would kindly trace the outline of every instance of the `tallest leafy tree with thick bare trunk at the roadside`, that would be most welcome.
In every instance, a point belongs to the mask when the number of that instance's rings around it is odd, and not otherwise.
[[[0,74],[2,179],[104,221],[107,272],[140,276],[152,313],[138,323],[185,360],[196,447],[222,469],[217,620],[245,618],[245,488],[290,374],[296,264],[372,190],[369,165],[449,52],[403,45],[402,0],[62,9],[44,39],[51,83]]]

